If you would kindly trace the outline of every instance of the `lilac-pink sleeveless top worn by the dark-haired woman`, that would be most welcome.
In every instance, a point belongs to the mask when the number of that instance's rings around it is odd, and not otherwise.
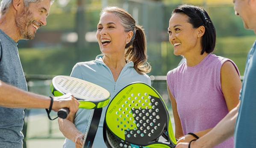
[[[167,83],[177,102],[184,134],[213,128],[229,112],[221,89],[221,66],[226,61],[231,60],[209,54],[196,66],[188,67],[185,61],[168,72]],[[215,148],[233,147],[231,137]]]

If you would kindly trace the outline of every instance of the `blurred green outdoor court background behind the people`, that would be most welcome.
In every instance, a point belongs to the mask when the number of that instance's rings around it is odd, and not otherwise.
[[[77,62],[94,60],[100,54],[96,39],[100,10],[104,6],[119,6],[144,27],[152,66],[148,75],[171,115],[165,75],[182,58],[173,54],[167,28],[173,9],[185,3],[202,6],[208,12],[217,32],[214,53],[234,61],[243,75],[247,53],[256,37],[235,16],[232,0],[55,0],[47,25],[38,29],[32,41],[18,41],[29,91],[50,96],[49,85],[54,75],[70,75]],[[57,121],[48,120],[45,110],[26,110],[25,121],[24,148],[62,146],[64,136]]]

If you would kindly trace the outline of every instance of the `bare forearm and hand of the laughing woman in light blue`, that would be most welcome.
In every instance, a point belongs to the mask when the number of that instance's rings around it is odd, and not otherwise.
[[[82,148],[84,134],[74,125],[74,118],[75,113],[66,119],[58,118],[59,130],[66,138],[71,139],[75,143],[76,148]]]

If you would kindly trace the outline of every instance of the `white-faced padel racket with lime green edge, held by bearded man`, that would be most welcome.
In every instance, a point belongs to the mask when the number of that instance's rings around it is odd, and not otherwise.
[[[50,85],[53,96],[62,96],[71,93],[78,101],[79,108],[94,109],[102,108],[109,104],[110,93],[103,87],[91,82],[65,75],[55,76]],[[68,108],[58,111],[58,116],[65,119]]]

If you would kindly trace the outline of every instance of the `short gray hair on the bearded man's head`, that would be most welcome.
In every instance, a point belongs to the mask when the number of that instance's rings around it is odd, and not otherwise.
[[[43,0],[23,0],[25,6],[29,6],[29,3],[38,3]],[[50,0],[51,5],[53,4],[54,0]],[[0,4],[0,12],[5,13],[11,6],[12,0],[2,0]]]

